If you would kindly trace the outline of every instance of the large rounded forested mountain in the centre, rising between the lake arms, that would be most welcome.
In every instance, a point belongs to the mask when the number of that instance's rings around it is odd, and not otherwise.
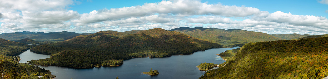
[[[134,34],[130,34],[133,32]],[[88,68],[120,65],[122,60],[119,59],[190,54],[222,46],[187,34],[159,28],[133,32],[99,31],[59,43],[41,45],[31,48],[31,51],[51,54],[51,58],[30,62],[41,65]]]

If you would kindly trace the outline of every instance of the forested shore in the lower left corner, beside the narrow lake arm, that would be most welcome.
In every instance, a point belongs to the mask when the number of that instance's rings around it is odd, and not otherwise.
[[[38,79],[40,75],[43,79],[54,77],[49,70],[18,63],[19,57],[14,56],[32,47],[0,38],[0,79]]]

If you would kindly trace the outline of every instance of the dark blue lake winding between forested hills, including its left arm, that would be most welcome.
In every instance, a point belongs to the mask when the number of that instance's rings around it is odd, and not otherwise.
[[[235,48],[218,48],[207,49],[205,51],[197,51],[190,55],[173,55],[163,58],[132,58],[124,60],[123,65],[117,67],[100,67],[100,68],[71,68],[61,66],[40,66],[50,70],[55,75],[55,79],[198,79],[205,71],[199,70],[196,66],[201,63],[224,63],[225,60],[218,55],[225,50],[237,49]],[[33,53],[27,50],[19,55],[21,57],[20,63],[27,62],[32,59],[44,59],[50,55]],[[157,69],[159,74],[150,76],[142,74],[142,72],[150,69]]]

